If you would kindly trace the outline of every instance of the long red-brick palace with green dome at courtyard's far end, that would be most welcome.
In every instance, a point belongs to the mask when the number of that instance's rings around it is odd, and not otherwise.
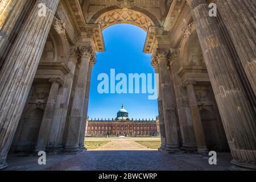
[[[159,119],[129,119],[122,105],[115,119],[88,119],[86,136],[155,136],[160,134]]]

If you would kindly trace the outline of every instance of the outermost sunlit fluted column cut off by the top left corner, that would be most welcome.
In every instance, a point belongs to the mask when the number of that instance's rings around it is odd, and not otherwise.
[[[17,23],[27,0],[2,0],[0,1],[0,68],[2,56],[9,42],[9,36]]]

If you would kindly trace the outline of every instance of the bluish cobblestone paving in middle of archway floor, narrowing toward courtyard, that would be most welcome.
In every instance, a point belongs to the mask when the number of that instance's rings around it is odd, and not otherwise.
[[[159,151],[84,151],[47,171],[204,170]]]

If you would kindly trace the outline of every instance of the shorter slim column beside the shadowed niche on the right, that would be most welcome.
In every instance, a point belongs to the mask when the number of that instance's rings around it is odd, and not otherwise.
[[[194,90],[195,81],[185,81],[184,88],[187,88],[188,102],[191,109],[191,119],[196,137],[197,152],[199,154],[207,154],[207,144],[204,137],[203,124],[201,122],[199,107],[197,105],[196,94]]]

